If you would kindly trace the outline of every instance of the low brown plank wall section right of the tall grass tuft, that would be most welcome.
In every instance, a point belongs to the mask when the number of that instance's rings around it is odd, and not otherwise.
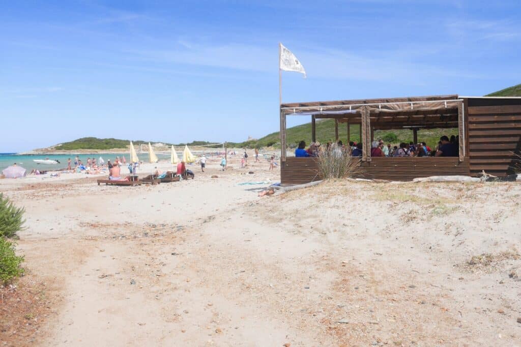
[[[371,162],[361,163],[357,175],[368,179],[392,179],[393,181],[412,181],[416,177],[470,174],[469,160],[460,162],[457,157],[420,158],[372,158]]]

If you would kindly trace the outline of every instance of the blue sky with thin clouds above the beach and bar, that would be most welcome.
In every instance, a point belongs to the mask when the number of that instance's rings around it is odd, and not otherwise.
[[[85,136],[278,130],[283,101],[483,95],[521,83],[521,2],[0,3],[0,152]],[[309,121],[292,118],[288,125]]]

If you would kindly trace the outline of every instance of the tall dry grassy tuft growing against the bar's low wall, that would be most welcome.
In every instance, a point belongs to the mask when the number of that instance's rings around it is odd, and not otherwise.
[[[337,144],[330,148],[321,146],[317,162],[322,179],[353,177],[359,172],[360,159],[351,157],[348,147],[338,147]]]

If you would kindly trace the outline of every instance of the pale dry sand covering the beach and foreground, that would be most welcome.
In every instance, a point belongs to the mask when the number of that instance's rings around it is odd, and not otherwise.
[[[521,185],[339,181],[259,198],[265,185],[238,183],[279,170],[231,165],[158,186],[0,182],[27,210],[28,275],[10,293],[32,298],[0,341],[521,345]]]

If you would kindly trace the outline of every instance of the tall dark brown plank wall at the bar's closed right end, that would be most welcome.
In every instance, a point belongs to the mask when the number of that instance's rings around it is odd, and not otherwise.
[[[521,168],[514,155],[521,140],[521,99],[469,98],[466,105],[470,174],[504,176]]]

